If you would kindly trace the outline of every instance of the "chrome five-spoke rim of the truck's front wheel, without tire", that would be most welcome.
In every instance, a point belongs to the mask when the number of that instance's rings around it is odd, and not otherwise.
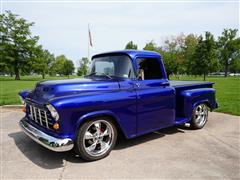
[[[84,133],[83,147],[90,156],[101,156],[113,143],[114,131],[112,125],[105,120],[92,122]]]

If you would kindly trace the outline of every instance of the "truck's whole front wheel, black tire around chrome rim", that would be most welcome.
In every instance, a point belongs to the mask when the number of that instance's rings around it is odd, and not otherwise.
[[[111,119],[102,117],[86,121],[78,130],[74,150],[86,161],[109,155],[117,140],[117,129]]]

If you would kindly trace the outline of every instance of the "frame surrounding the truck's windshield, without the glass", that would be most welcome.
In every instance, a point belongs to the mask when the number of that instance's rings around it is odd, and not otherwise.
[[[125,56],[127,57],[128,61],[130,61],[130,66],[131,66],[131,69],[133,70],[133,77],[124,77],[124,76],[115,76],[115,75],[110,75],[110,74],[102,74],[102,75],[97,75],[95,74],[94,72],[91,72],[92,70],[92,63],[93,61],[96,59],[96,58],[101,58],[101,57],[110,57],[110,56]],[[107,53],[107,54],[100,54],[100,55],[95,55],[91,58],[91,65],[89,67],[89,71],[88,71],[89,75],[90,76],[97,76],[97,77],[106,77],[107,75],[112,77],[112,78],[122,78],[122,79],[136,79],[137,78],[137,74],[136,74],[136,70],[135,70],[135,66],[134,66],[134,63],[133,63],[133,60],[132,58],[128,55],[128,54],[125,54],[125,53]],[[91,75],[92,74],[92,75]],[[89,75],[87,75],[89,77]]]

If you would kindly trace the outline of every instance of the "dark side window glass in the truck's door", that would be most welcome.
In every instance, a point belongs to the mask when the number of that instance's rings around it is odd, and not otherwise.
[[[162,79],[162,71],[158,59],[137,58],[138,70],[141,70],[145,80]]]

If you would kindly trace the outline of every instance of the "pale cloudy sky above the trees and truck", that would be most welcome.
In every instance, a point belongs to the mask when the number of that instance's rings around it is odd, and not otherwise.
[[[78,66],[88,56],[88,24],[93,47],[90,56],[124,49],[133,41],[142,49],[154,40],[181,33],[197,35],[210,31],[215,37],[224,28],[239,29],[239,1],[74,2],[2,0],[1,10],[35,22],[33,35],[54,53],[65,54]]]

